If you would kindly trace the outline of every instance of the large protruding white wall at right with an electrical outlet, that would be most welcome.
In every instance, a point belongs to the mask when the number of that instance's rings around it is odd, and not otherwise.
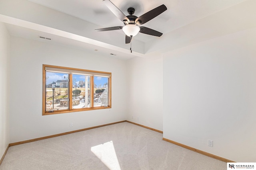
[[[255,45],[256,28],[164,56],[164,138],[236,162],[255,162]]]

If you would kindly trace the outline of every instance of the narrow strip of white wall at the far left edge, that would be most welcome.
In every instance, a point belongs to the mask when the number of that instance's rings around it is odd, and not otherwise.
[[[8,147],[9,140],[9,58],[10,58],[10,35],[0,22],[0,159]]]

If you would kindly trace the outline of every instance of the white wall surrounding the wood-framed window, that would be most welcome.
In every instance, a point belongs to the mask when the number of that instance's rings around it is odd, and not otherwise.
[[[112,108],[42,116],[42,64],[112,72]],[[124,60],[11,37],[10,70],[10,143],[126,120]]]

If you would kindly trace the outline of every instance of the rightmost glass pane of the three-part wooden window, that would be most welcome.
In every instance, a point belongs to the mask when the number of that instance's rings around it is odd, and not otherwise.
[[[94,76],[94,107],[108,106],[108,78]]]

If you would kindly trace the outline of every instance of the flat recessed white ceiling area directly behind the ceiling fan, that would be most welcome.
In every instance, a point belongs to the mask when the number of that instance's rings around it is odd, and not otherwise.
[[[123,26],[102,2],[102,0],[30,0],[31,2],[89,21],[98,28]],[[126,16],[127,9],[135,9],[134,15],[142,14],[164,4],[167,10],[148,21],[143,26],[164,34],[196,20],[210,16],[218,11],[234,6],[245,0],[110,0]],[[95,29],[98,29],[95,28]],[[119,30],[119,32],[123,33]],[[134,39],[142,42],[152,41],[155,37],[139,33]]]

